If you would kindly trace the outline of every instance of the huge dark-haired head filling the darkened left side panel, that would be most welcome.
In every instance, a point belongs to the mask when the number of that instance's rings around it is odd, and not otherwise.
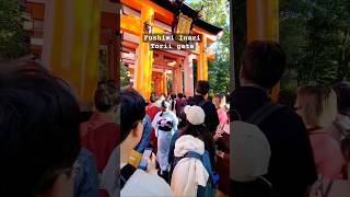
[[[79,105],[38,62],[8,67],[0,86],[0,196],[72,196]]]

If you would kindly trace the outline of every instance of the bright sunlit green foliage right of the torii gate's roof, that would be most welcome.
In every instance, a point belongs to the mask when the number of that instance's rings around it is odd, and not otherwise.
[[[201,10],[202,20],[223,27],[223,34],[210,48],[215,59],[209,62],[208,81],[212,93],[226,93],[230,81],[230,3],[228,0],[192,0],[189,5]]]

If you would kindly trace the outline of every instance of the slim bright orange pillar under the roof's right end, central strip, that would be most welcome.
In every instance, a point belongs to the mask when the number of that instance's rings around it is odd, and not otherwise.
[[[197,61],[197,81],[208,80],[208,55],[207,55],[207,36],[201,35],[199,43],[199,58]]]

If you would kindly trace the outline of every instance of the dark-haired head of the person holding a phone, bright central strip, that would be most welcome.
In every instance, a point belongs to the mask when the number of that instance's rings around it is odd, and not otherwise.
[[[136,147],[142,136],[142,120],[145,115],[145,102],[132,88],[120,91],[120,141]]]

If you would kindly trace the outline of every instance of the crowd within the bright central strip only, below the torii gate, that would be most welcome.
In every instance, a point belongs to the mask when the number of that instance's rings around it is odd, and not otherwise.
[[[154,160],[148,160],[148,162],[155,163],[148,163],[148,165],[158,166],[156,171],[147,169],[149,177],[136,167],[132,171],[128,170],[126,177],[130,172],[132,174],[142,172],[147,181],[141,183],[141,178],[138,178],[139,182],[133,182],[136,175],[128,177],[129,179],[121,187],[121,194],[130,196],[214,196],[217,193],[223,196],[229,195],[229,108],[225,95],[217,94],[212,102],[207,100],[209,88],[208,81],[198,81],[196,94],[190,97],[182,93],[177,95],[152,93],[147,104],[133,89],[121,90],[121,136],[124,132],[135,132],[135,128],[130,126],[142,121],[139,125],[143,132],[139,135],[139,143],[132,150],[140,154],[147,149],[153,150],[154,158],[151,158]],[[132,107],[138,105],[138,109]],[[130,118],[133,117],[130,111],[141,114],[143,118]],[[124,130],[125,124],[129,125],[125,128],[126,130]],[[130,152],[132,148],[124,149],[125,143],[130,144],[130,142],[121,142],[121,155]],[[217,162],[219,157],[220,163]],[[125,160],[120,160],[121,177],[124,177],[124,170],[127,171],[130,167],[128,160],[128,155]],[[218,166],[215,166],[217,163]],[[221,176],[223,178],[220,178]],[[154,179],[152,182],[149,178]],[[158,189],[150,189],[154,183]],[[220,192],[217,189],[218,186]],[[140,189],[144,187],[147,189]],[[164,193],[160,193],[161,187]]]

